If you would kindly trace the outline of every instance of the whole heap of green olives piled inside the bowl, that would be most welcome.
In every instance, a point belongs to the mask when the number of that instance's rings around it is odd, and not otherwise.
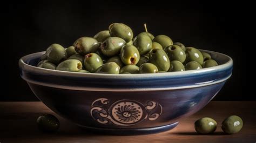
[[[93,37],[78,38],[66,49],[52,44],[37,66],[70,72],[136,74],[198,70],[218,65],[209,53],[173,43],[166,35],[154,37],[144,26],[145,32],[136,37],[129,26],[113,23],[109,30]]]

